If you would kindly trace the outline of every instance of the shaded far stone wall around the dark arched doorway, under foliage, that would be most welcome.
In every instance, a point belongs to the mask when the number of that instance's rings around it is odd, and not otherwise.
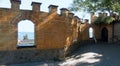
[[[104,13],[100,16],[104,16]],[[91,27],[93,27],[94,35],[96,39],[101,40],[102,29],[106,28],[108,30],[108,42],[112,42],[113,41],[113,23],[112,24],[94,24],[94,20],[96,18],[97,17],[95,15],[91,14],[91,19],[92,19]]]

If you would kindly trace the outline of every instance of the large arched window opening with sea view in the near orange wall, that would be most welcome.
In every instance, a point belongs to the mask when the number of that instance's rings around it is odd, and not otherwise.
[[[35,46],[35,25],[30,20],[21,20],[18,23],[17,47]]]

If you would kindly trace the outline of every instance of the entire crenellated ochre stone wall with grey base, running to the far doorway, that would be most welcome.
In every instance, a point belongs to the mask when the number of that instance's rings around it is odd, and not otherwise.
[[[113,33],[117,34],[119,30],[118,23],[89,25],[87,19],[82,23],[78,16],[66,8],[61,8],[59,15],[56,5],[50,5],[46,13],[40,11],[41,3],[33,2],[32,11],[29,11],[19,9],[20,0],[10,2],[11,9],[0,8],[0,64],[64,59],[80,46],[76,42],[89,40],[89,27],[94,29],[96,39],[105,38],[106,41],[110,41]],[[91,21],[94,22],[96,18],[91,13]],[[26,19],[35,24],[36,46],[18,48],[18,23]],[[113,32],[113,29],[116,31]]]

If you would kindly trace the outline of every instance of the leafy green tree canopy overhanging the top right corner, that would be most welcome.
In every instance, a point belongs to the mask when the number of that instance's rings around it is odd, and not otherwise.
[[[119,0],[73,0],[69,7],[70,11],[108,11],[109,13],[116,12],[120,14]]]

